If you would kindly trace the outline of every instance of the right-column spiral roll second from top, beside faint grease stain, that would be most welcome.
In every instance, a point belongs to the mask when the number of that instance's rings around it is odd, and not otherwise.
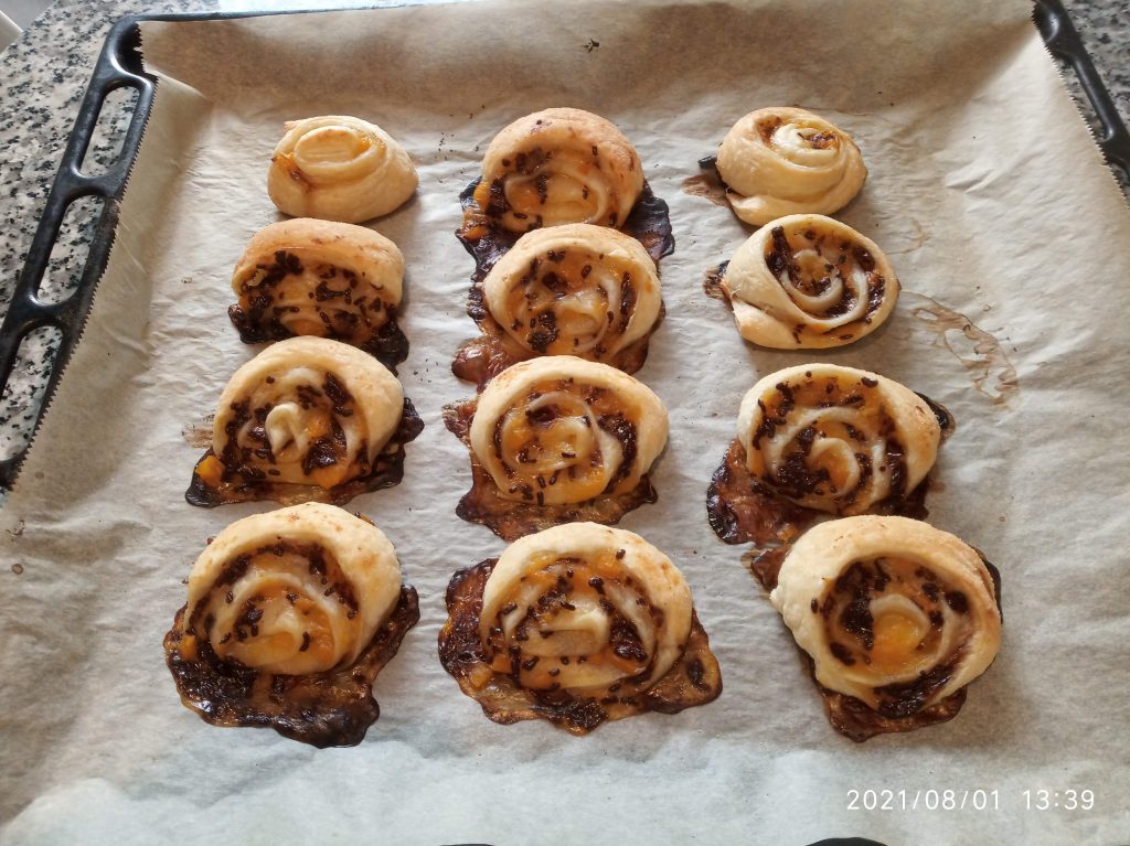
[[[722,290],[747,341],[822,349],[878,329],[895,307],[899,285],[883,251],[850,226],[793,215],[738,247]]]

